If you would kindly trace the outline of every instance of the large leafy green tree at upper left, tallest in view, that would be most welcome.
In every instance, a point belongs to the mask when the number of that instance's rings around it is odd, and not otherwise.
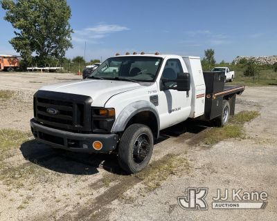
[[[72,48],[71,9],[66,0],[2,0],[1,6],[7,10],[4,19],[15,28],[9,42],[25,64],[60,60]]]

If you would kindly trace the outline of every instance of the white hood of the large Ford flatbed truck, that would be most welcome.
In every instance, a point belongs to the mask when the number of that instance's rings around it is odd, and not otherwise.
[[[39,90],[86,95],[93,99],[92,106],[105,106],[105,103],[111,96],[140,87],[142,87],[140,84],[129,81],[86,79],[83,81],[66,81],[50,84],[43,86]]]

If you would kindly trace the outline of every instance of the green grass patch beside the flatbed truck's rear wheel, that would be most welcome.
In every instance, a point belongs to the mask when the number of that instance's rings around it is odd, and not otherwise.
[[[213,145],[229,138],[244,138],[243,124],[250,122],[259,115],[258,111],[241,111],[231,117],[228,125],[206,130],[203,140],[204,144]]]

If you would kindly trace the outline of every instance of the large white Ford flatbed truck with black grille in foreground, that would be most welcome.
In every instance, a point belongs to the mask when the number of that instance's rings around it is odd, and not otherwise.
[[[34,137],[55,148],[116,153],[122,169],[147,166],[154,139],[188,118],[227,124],[235,95],[222,72],[202,72],[199,57],[119,55],[87,79],[44,86],[34,95]]]

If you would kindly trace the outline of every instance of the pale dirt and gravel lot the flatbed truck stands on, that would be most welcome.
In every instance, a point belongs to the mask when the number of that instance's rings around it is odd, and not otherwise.
[[[29,131],[33,93],[44,84],[81,79],[73,74],[0,73],[0,90],[15,90],[1,102],[0,128]],[[57,153],[30,140],[10,151],[11,165],[0,180],[0,220],[276,220],[277,88],[247,88],[236,112],[260,111],[244,124],[245,139],[214,146],[199,143],[205,128],[188,123],[162,133],[152,167],[168,153],[180,162],[178,173],[149,189],[136,176],[124,175],[114,155]],[[0,165],[1,166],[1,165]],[[1,167],[0,167],[1,168]],[[8,182],[8,179],[10,179]],[[208,187],[208,210],[185,211],[177,197],[188,187]],[[213,210],[216,189],[267,191],[264,210]],[[210,194],[211,193],[211,194]]]

